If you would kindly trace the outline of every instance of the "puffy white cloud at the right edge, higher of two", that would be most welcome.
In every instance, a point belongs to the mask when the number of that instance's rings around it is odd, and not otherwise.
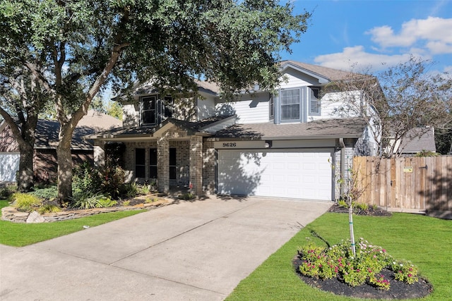
[[[383,48],[411,47],[425,41],[434,53],[452,53],[452,35],[449,32],[452,32],[452,18],[428,17],[403,23],[398,34],[387,25],[374,27],[365,33],[371,35],[371,40]]]

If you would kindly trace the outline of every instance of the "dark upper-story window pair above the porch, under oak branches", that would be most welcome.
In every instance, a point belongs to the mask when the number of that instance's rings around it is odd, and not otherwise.
[[[159,98],[159,95],[148,95],[140,99],[140,123],[141,125],[157,125],[166,118],[172,118],[172,97]]]

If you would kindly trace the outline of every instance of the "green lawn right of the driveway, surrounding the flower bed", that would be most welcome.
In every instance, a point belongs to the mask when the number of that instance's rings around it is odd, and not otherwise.
[[[421,275],[434,286],[434,292],[422,300],[451,300],[452,221],[393,214],[354,216],[354,223],[357,240],[364,238],[385,248],[394,258],[410,260],[419,267]],[[295,274],[291,260],[299,246],[309,241],[325,245],[312,231],[334,245],[350,238],[348,216],[327,213],[307,225],[239,283],[226,300],[350,300],[311,288]]]

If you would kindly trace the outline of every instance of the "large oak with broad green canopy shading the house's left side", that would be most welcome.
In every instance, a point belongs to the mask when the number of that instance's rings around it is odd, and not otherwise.
[[[309,18],[264,0],[4,0],[0,66],[27,68],[54,102],[62,200],[72,193],[73,130],[107,82],[114,90],[149,79],[188,89],[194,78],[226,94],[270,88],[280,51]]]

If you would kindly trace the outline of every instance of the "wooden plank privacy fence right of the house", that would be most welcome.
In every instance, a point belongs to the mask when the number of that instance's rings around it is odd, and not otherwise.
[[[353,158],[358,202],[388,211],[452,211],[452,156]]]

